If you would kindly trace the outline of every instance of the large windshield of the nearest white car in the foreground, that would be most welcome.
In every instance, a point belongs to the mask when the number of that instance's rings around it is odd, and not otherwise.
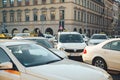
[[[19,44],[8,46],[8,48],[25,67],[43,65],[61,60],[60,57],[37,44]]]

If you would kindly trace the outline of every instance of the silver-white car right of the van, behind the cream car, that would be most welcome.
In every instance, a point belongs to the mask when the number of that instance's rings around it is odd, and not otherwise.
[[[88,40],[88,45],[96,45],[109,39],[106,34],[93,34]]]

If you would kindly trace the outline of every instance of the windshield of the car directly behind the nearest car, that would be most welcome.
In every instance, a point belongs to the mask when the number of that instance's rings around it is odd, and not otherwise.
[[[50,43],[47,39],[26,39],[26,40],[35,41],[46,48],[53,48],[52,43]]]

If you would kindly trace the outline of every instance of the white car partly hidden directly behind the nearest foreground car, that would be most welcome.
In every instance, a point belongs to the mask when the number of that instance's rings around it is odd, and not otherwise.
[[[54,48],[54,45],[52,45],[52,43],[50,41],[48,41],[48,39],[46,39],[44,37],[21,37],[19,39],[20,40],[35,41],[35,42],[37,42],[37,44],[40,44],[40,45],[50,49],[51,51],[53,51],[54,53],[56,53],[60,57],[68,58],[67,53],[65,51],[61,51],[61,50],[58,50],[58,49]]]

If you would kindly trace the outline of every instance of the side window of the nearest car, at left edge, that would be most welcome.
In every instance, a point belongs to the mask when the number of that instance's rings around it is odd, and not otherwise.
[[[0,48],[0,63],[3,62],[10,62],[10,58],[8,57],[6,52],[2,48]]]

